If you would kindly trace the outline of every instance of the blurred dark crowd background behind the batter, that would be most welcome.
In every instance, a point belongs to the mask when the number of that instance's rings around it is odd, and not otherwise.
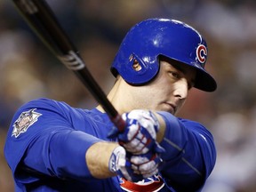
[[[179,116],[212,132],[217,164],[204,192],[256,191],[255,0],[48,0],[104,92],[114,84],[109,67],[125,33],[140,20],[182,20],[208,43],[206,69],[218,90],[192,90]],[[0,1],[0,188],[14,191],[4,160],[13,113],[39,97],[77,108],[96,105],[91,94],[31,32],[12,1]]]

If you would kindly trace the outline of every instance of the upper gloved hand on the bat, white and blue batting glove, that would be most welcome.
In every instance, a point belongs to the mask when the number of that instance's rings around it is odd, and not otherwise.
[[[126,122],[124,132],[118,134],[119,144],[133,155],[146,154],[149,150],[163,153],[164,148],[156,142],[159,123],[156,116],[148,110],[132,110],[122,115]]]

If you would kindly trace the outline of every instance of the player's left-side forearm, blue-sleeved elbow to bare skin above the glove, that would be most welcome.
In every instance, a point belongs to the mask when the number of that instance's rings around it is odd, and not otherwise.
[[[61,130],[45,133],[31,143],[24,164],[59,178],[107,178],[113,176],[108,171],[108,161],[117,145],[84,132]]]

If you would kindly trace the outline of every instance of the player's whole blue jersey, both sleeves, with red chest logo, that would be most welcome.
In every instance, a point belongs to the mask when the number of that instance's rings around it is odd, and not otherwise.
[[[108,116],[56,100],[28,102],[13,116],[4,146],[16,191],[199,191],[215,164],[212,134],[196,122],[159,114],[166,123],[163,171],[138,183],[99,180],[85,153],[96,142],[116,141],[108,139],[114,126]]]

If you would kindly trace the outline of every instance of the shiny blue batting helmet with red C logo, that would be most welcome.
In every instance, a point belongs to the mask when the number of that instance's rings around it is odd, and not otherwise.
[[[205,92],[217,88],[206,72],[207,44],[196,29],[179,20],[148,19],[136,24],[126,34],[111,66],[114,76],[120,74],[128,84],[146,84],[159,70],[159,56],[196,68],[195,87]],[[134,68],[134,60],[140,69]]]

